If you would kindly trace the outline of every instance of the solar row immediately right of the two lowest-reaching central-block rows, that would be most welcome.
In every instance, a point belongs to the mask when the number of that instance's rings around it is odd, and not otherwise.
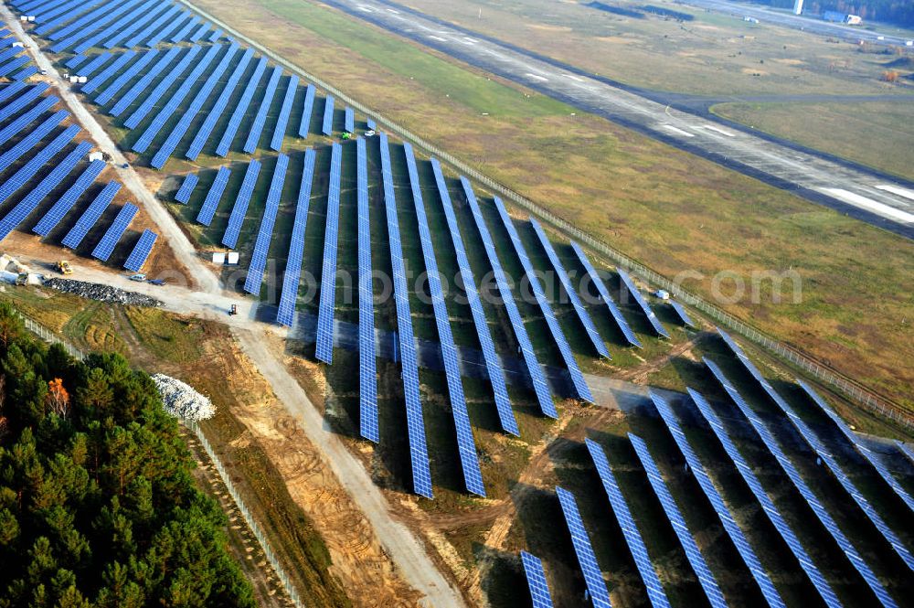
[[[498,420],[505,432],[519,436],[520,430],[517,428],[514,411],[511,410],[511,400],[508,398],[508,390],[505,386],[505,370],[502,368],[498,355],[495,354],[492,332],[489,331],[489,323],[485,318],[483,303],[480,300],[479,291],[476,289],[473,269],[470,267],[470,261],[466,257],[466,250],[463,248],[463,239],[457,224],[457,216],[454,214],[451,195],[448,192],[447,183],[444,181],[444,174],[441,172],[441,164],[438,159],[431,159],[431,168],[435,174],[438,196],[441,198],[441,207],[444,208],[444,217],[447,219],[448,229],[451,231],[451,241],[457,254],[457,264],[460,266],[461,283],[466,293],[467,302],[470,304],[470,311],[473,314],[476,336],[479,337],[479,344],[483,348],[485,369],[492,383]]]

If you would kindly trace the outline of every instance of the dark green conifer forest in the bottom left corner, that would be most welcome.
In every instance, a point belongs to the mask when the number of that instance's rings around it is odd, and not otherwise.
[[[253,606],[153,381],[0,304],[0,607]]]

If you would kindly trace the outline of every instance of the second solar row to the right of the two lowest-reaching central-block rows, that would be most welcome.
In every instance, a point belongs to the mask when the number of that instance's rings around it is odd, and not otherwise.
[[[495,251],[492,235],[485,225],[483,212],[479,208],[479,202],[476,200],[473,187],[470,186],[470,182],[466,177],[461,177],[460,181],[463,187],[463,193],[466,195],[470,209],[473,211],[473,220],[476,222],[476,229],[479,231],[479,236],[483,240],[489,264],[492,266],[495,284],[498,287],[498,294],[501,296],[502,303],[505,305],[505,311],[508,314],[508,318],[511,320],[511,326],[514,328],[517,344],[520,347],[521,354],[524,356],[526,370],[530,375],[530,384],[537,394],[539,410],[550,418],[558,418],[556,405],[552,402],[552,395],[549,392],[546,377],[543,375],[543,368],[539,365],[537,354],[534,352],[533,345],[530,343],[530,336],[526,333],[524,318],[520,315],[520,311],[517,310],[514,294],[511,293],[511,287],[507,282],[505,271],[502,270],[502,262],[498,259],[498,253]]]

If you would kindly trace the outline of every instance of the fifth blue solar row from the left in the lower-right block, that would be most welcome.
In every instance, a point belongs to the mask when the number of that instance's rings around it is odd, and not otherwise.
[[[717,492],[717,488],[714,486],[714,483],[711,482],[711,478],[707,476],[705,465],[701,464],[696,453],[692,450],[692,445],[688,442],[688,439],[686,439],[685,433],[682,428],[680,428],[679,421],[676,420],[670,406],[662,397],[654,393],[653,390],[651,391],[651,400],[654,401],[654,406],[656,406],[661,418],[664,419],[670,434],[673,435],[676,445],[679,446],[679,451],[685,456],[685,462],[692,470],[692,475],[695,475],[695,479],[698,482],[698,485],[701,486],[702,492],[707,496],[707,500],[711,503],[711,507],[714,507],[717,517],[720,518],[720,523],[723,524],[724,530],[727,532],[730,540],[733,541],[733,545],[736,547],[737,552],[739,552],[739,557],[746,563],[746,566],[749,568],[749,573],[759,584],[761,594],[765,597],[765,601],[772,607],[785,606],[784,601],[781,599],[781,595],[774,587],[774,583],[771,582],[768,572],[762,567],[759,557],[755,554],[755,549],[752,549],[751,545],[749,545],[749,540],[746,539],[742,529],[737,525],[736,519],[733,518],[729,508],[724,503],[724,499]]]

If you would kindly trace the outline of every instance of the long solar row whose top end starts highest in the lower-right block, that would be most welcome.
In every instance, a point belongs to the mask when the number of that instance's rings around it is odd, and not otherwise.
[[[719,331],[719,330],[718,330]],[[848,496],[854,499],[857,507],[860,507],[860,510],[864,512],[866,518],[868,518],[873,525],[879,530],[879,533],[887,540],[888,544],[892,546],[892,549],[895,549],[895,552],[898,553],[898,556],[904,560],[908,567],[911,570],[914,570],[914,555],[911,555],[911,552],[904,543],[901,542],[901,539],[898,538],[898,535],[895,531],[888,526],[885,520],[879,516],[875,507],[866,499],[866,496],[860,493],[860,490],[857,489],[856,485],[851,478],[847,476],[844,469],[838,464],[835,460],[834,455],[825,449],[824,445],[819,438],[815,435],[812,429],[809,428],[809,425],[797,415],[796,411],[793,411],[793,408],[790,404],[784,400],[781,395],[771,386],[771,383],[768,379],[765,379],[761,375],[761,372],[755,365],[749,360],[749,357],[746,356],[746,353],[743,352],[742,348],[733,341],[733,338],[728,336],[725,332],[720,331],[720,336],[724,338],[724,341],[727,342],[730,349],[733,353],[739,358],[740,363],[743,367],[749,371],[749,374],[756,379],[761,385],[761,388],[765,391],[765,394],[774,401],[774,403],[781,409],[781,412],[786,414],[787,420],[791,421],[793,427],[800,433],[803,440],[813,449],[813,452],[822,459],[825,466],[828,467],[828,470],[832,472],[834,478],[838,483],[845,489],[845,492]]]

